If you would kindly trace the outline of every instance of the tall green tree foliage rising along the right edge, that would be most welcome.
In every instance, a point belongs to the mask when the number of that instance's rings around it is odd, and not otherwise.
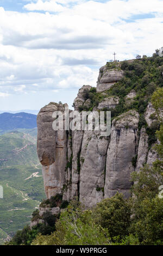
[[[160,108],[160,103],[158,108]],[[134,182],[132,188],[134,197],[130,200],[133,218],[129,230],[139,239],[141,245],[163,244],[163,199],[158,197],[159,187],[163,184],[162,131],[161,124],[160,130],[156,131],[160,144],[154,147],[159,159],[153,162],[151,168],[146,164],[139,173],[131,174]]]

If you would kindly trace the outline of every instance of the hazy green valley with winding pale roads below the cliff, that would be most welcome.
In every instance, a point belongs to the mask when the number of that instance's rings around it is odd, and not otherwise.
[[[29,224],[43,191],[42,170],[36,154],[36,129],[0,136],[0,245],[17,229]]]

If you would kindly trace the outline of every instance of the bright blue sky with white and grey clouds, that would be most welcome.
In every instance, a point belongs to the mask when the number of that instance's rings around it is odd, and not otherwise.
[[[0,111],[72,103],[99,68],[163,46],[163,0],[0,0]]]

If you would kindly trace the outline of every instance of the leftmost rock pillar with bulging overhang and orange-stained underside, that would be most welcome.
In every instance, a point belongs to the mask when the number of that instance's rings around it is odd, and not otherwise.
[[[67,154],[66,131],[54,131],[54,111],[64,112],[66,105],[49,103],[37,115],[37,154],[42,164],[42,174],[47,198],[61,193],[65,183]]]

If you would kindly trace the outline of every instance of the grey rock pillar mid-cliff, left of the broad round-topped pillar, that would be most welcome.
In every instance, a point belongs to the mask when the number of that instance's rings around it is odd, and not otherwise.
[[[85,132],[82,144],[82,153],[86,147],[85,154],[82,154],[83,161],[80,170],[80,202],[90,207],[103,199],[105,184],[106,151],[108,138],[100,138],[99,132]],[[85,145],[85,142],[88,142]]]

